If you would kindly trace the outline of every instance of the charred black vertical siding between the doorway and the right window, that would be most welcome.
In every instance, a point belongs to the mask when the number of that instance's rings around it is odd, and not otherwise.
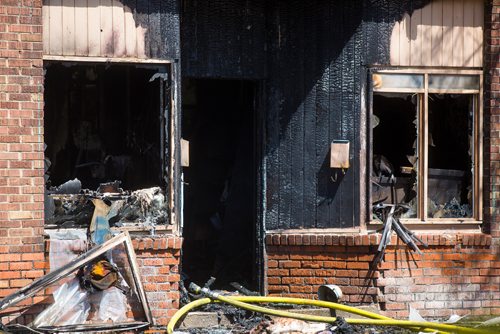
[[[268,13],[267,229],[360,224],[367,66],[389,64],[394,23],[418,1],[278,1]],[[351,168],[329,167],[350,141]]]

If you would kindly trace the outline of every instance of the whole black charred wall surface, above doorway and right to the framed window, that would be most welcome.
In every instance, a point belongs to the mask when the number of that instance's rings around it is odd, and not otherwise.
[[[184,1],[183,75],[264,80],[267,229],[359,225],[361,85],[427,2]],[[335,139],[350,141],[345,174],[329,167]]]

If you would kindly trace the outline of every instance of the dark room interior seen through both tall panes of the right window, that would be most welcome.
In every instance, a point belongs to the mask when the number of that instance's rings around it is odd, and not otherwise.
[[[417,98],[373,97],[372,202],[407,203],[405,218],[415,218],[417,211]],[[472,101],[470,95],[429,94],[429,218],[472,216]]]

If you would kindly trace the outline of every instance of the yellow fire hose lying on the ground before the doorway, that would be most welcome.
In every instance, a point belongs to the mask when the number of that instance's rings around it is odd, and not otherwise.
[[[329,309],[335,309],[339,311],[349,312],[352,314],[357,314],[368,319],[345,319],[347,323],[353,325],[373,325],[373,326],[397,326],[419,331],[440,331],[442,333],[457,333],[457,334],[494,334],[495,332],[486,329],[476,329],[469,328],[451,324],[440,324],[433,322],[419,322],[419,321],[408,321],[408,320],[395,320],[389,317],[382,316],[377,313],[365,311],[356,307],[320,301],[320,300],[309,300],[302,298],[286,298],[286,297],[262,297],[262,296],[223,296],[218,293],[212,292],[207,288],[201,288],[195,284],[191,286],[192,290],[196,293],[201,293],[208,298],[202,298],[195,300],[185,306],[183,306],[177,313],[174,314],[167,326],[167,333],[172,334],[177,322],[189,311],[200,307],[202,305],[223,302],[233,305],[238,308],[242,308],[248,311],[274,315],[285,318],[294,318],[304,321],[314,321],[314,322],[324,322],[333,323],[336,318],[334,317],[324,317],[309,314],[299,314],[282,310],[275,310],[267,307],[262,307],[258,305],[252,305],[250,303],[277,303],[277,304],[296,304],[296,305],[311,305],[317,307],[324,307]]]

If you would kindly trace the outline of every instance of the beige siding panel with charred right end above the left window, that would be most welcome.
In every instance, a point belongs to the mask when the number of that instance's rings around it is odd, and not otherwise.
[[[178,0],[44,0],[50,56],[179,58]]]

